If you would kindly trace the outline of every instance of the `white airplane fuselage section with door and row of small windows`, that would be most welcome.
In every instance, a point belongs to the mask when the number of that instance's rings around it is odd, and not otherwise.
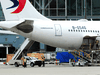
[[[54,47],[79,49],[85,36],[100,36],[96,24],[93,21],[35,21],[30,37]]]

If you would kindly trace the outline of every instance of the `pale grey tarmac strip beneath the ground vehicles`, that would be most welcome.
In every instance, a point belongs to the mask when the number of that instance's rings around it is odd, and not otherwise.
[[[45,67],[30,67],[26,68],[14,65],[1,65],[0,75],[100,75],[100,66],[84,66],[72,67],[67,64],[46,64]]]

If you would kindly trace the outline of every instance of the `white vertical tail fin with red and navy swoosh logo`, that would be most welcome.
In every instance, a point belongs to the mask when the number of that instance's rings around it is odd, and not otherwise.
[[[29,0],[0,0],[6,21],[34,18],[50,20],[41,15]]]

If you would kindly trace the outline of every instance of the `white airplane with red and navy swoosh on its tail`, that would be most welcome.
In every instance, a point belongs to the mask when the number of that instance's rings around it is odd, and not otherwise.
[[[41,15],[29,0],[0,0],[6,21],[0,27],[31,40],[63,49],[79,49],[85,38],[100,37],[100,22],[53,21]]]

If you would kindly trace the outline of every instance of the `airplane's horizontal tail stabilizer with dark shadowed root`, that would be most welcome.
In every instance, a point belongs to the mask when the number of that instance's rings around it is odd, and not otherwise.
[[[29,33],[33,30],[33,20],[2,21],[0,27],[11,31]]]

